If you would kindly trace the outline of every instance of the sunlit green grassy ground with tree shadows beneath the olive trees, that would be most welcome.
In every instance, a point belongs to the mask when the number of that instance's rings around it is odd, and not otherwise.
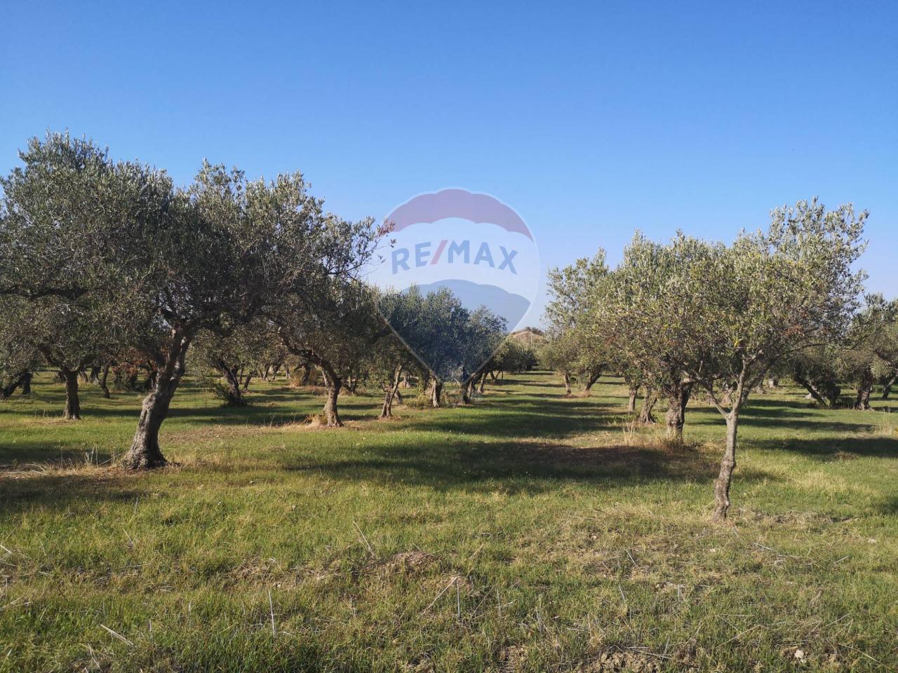
[[[139,397],[66,423],[44,376],[0,406],[0,671],[898,669],[898,416],[755,398],[715,525],[717,412],[665,448],[603,381],[339,430],[188,384],[126,474]]]

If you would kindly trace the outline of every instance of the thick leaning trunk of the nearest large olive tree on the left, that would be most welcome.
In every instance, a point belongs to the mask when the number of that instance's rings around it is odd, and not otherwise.
[[[174,329],[167,354],[156,354],[159,369],[154,377],[153,388],[141,406],[131,448],[121,459],[123,468],[161,468],[168,462],[159,448],[159,429],[168,415],[175,390],[184,375],[184,357],[187,355],[190,337],[182,330]]]

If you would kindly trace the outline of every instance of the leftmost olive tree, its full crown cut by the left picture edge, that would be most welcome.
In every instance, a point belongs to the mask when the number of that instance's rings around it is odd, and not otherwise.
[[[22,166],[0,178],[0,296],[27,306],[7,311],[4,332],[59,369],[66,418],[76,419],[78,372],[139,322],[134,290],[148,269],[133,243],[171,182],[68,134],[32,138],[19,156]],[[13,316],[27,326],[10,325]]]

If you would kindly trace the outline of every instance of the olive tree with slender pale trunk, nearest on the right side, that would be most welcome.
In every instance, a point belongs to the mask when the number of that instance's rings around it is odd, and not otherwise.
[[[683,371],[708,391],[726,421],[726,449],[714,483],[715,519],[726,518],[746,402],[780,361],[843,338],[858,309],[865,275],[854,269],[867,213],[826,211],[816,199],[771,214],[766,232],[742,233],[730,246],[674,240],[688,258],[669,283],[677,302],[665,334]],[[665,337],[666,338],[666,337]]]

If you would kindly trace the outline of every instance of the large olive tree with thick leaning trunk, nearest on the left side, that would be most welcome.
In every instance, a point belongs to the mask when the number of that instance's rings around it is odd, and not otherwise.
[[[122,461],[130,468],[164,464],[159,428],[198,333],[227,336],[283,304],[313,310],[320,285],[354,273],[357,248],[376,237],[370,221],[325,213],[299,173],[248,180],[208,163],[154,225],[136,244],[153,260],[154,321],[168,338],[148,345],[158,373]]]

